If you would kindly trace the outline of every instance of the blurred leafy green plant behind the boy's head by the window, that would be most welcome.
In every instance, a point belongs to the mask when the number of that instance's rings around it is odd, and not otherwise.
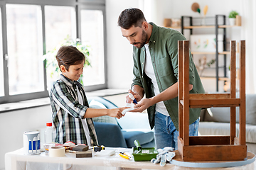
[[[53,85],[53,82],[56,81],[60,77],[60,69],[58,67],[58,62],[55,59],[55,56],[57,55],[57,52],[59,48],[63,45],[73,45],[80,50],[85,55],[85,67],[91,66],[90,64],[90,52],[89,52],[89,46],[83,45],[80,41],[80,39],[77,39],[74,41],[70,36],[68,35],[67,38],[63,40],[63,42],[60,42],[60,45],[57,45],[53,50],[50,50],[46,53],[46,55],[43,55],[43,59],[45,62],[46,67],[46,77],[47,77],[47,89],[48,91],[51,89],[51,86]],[[80,79],[78,80],[81,84],[82,82],[82,75]]]

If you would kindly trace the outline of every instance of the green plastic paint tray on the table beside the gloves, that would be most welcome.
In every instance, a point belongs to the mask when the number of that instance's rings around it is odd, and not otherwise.
[[[134,161],[151,161],[151,159],[156,158],[158,154],[155,147],[144,147],[142,150],[138,152],[137,147],[132,148],[132,155],[134,157]]]

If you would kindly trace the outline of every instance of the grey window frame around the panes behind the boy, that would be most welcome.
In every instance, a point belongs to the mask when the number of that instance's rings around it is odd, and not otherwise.
[[[43,77],[44,77],[44,91],[29,93],[29,94],[17,94],[17,95],[9,95],[9,77],[8,77],[8,68],[7,68],[7,60],[5,60],[5,55],[8,55],[7,51],[7,30],[6,30],[6,4],[33,4],[40,5],[42,11],[42,35],[43,35],[43,54],[46,54],[46,29],[45,29],[45,11],[44,6],[73,6],[75,7],[76,12],[76,33],[77,38],[80,39],[80,10],[81,9],[97,9],[103,12],[103,26],[104,26],[104,57],[106,61],[106,18],[105,18],[105,0],[2,0],[0,1],[1,8],[1,17],[2,17],[2,35],[3,35],[3,56],[1,60],[4,63],[4,96],[0,96],[0,104],[1,103],[12,103],[18,101],[31,100],[36,98],[45,98],[48,97],[47,91],[47,82],[46,82],[46,68],[43,69]],[[45,65],[45,64],[44,64]],[[105,83],[104,84],[95,84],[93,86],[85,86],[86,91],[93,91],[98,89],[106,89],[107,88],[107,64],[105,62]]]

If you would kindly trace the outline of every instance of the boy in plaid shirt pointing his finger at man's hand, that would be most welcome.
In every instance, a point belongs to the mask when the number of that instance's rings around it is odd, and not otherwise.
[[[50,91],[55,142],[98,145],[92,118],[102,115],[122,118],[125,108],[89,108],[83,86],[78,82],[85,64],[85,55],[76,47],[60,47],[56,60],[61,75]]]

